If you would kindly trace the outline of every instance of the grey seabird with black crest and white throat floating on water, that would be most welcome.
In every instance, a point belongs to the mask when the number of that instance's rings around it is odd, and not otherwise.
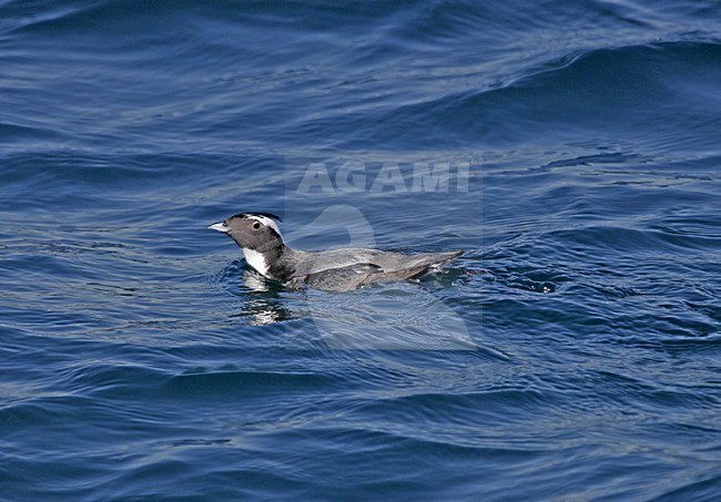
[[[270,213],[240,213],[210,228],[227,234],[262,275],[293,288],[348,291],[372,284],[418,277],[464,252],[405,255],[344,248],[309,253],[291,249]]]

